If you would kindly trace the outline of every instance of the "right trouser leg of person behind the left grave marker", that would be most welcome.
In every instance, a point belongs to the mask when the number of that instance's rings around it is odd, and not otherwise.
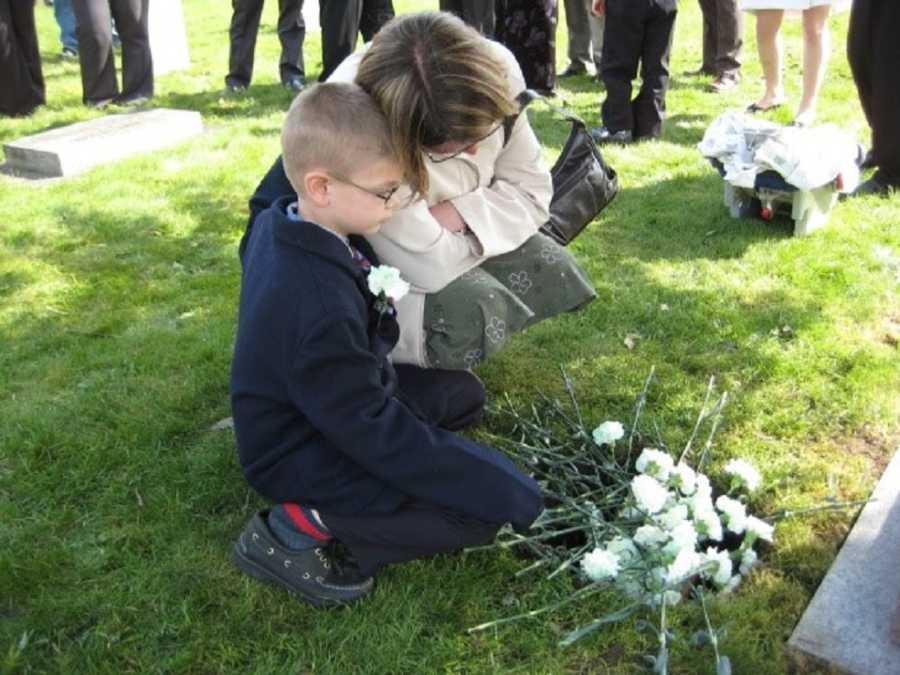
[[[153,56],[147,29],[149,0],[109,0],[122,41],[122,99],[153,96]]]

